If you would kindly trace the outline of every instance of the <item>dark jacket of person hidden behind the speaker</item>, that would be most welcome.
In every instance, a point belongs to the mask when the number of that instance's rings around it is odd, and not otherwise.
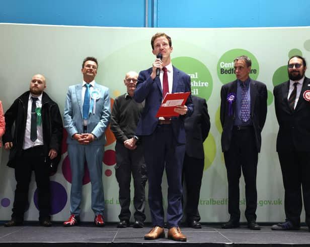
[[[189,157],[204,159],[203,142],[210,131],[208,106],[204,98],[192,97],[195,110],[185,119],[186,154]]]

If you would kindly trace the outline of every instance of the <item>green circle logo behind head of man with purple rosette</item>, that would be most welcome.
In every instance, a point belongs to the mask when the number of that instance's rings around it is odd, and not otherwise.
[[[259,64],[256,57],[249,51],[244,49],[232,49],[225,52],[217,63],[217,75],[219,80],[225,84],[230,81],[236,80],[235,63],[234,60],[239,56],[248,56],[252,61],[250,77],[254,80],[257,79],[259,74]]]

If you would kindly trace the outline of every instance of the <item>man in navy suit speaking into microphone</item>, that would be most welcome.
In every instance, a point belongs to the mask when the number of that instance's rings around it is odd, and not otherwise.
[[[153,228],[145,239],[165,236],[164,208],[162,196],[162,177],[166,168],[168,180],[167,225],[168,238],[186,241],[181,233],[179,221],[182,218],[182,168],[185,154],[184,119],[193,113],[192,97],[185,105],[178,105],[175,112],[179,116],[156,117],[167,91],[190,92],[189,75],[172,66],[173,51],[171,38],[165,33],[157,33],[151,38],[152,53],[162,54],[162,60],[156,58],[152,67],[139,73],[134,91],[137,102],[145,100],[145,106],[138,122],[136,135],[141,137],[148,175],[148,203]],[[160,73],[157,76],[157,69]]]

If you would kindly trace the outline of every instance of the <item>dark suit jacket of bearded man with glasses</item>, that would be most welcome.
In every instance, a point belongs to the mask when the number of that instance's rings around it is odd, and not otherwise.
[[[277,151],[309,152],[310,102],[303,98],[303,93],[310,90],[310,79],[304,78],[294,111],[291,111],[287,102],[288,89],[289,81],[277,85],[273,89],[276,116],[279,123]]]

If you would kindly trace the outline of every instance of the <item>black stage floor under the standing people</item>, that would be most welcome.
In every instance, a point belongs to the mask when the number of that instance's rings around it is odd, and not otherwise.
[[[221,229],[220,225],[203,224],[201,229],[182,227],[187,242],[176,242],[167,238],[144,240],[150,225],[135,229],[116,228],[116,224],[96,227],[90,223],[63,227],[54,223],[52,227],[42,227],[38,223],[24,226],[0,226],[0,246],[310,246],[310,232],[303,226],[295,231],[273,231],[264,225],[261,230],[250,230],[246,225],[235,229]],[[167,236],[167,229],[166,236]]]

